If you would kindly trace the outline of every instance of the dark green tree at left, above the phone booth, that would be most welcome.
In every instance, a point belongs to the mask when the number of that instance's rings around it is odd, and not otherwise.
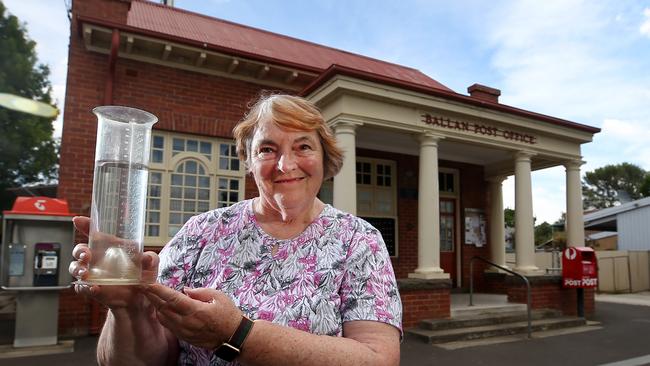
[[[0,92],[51,103],[49,68],[37,64],[36,43],[0,1]],[[0,206],[7,188],[56,179],[57,144],[52,119],[0,107]]]

